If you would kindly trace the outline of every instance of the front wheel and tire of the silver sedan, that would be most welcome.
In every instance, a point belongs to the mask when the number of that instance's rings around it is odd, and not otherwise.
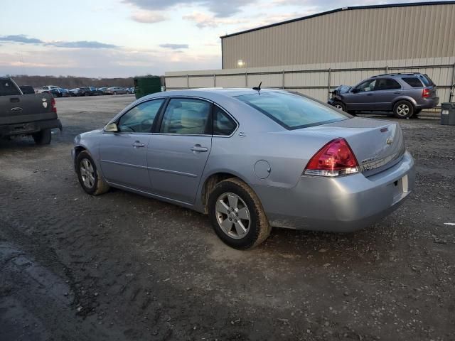
[[[81,151],[76,158],[77,179],[83,190],[90,195],[101,195],[109,190],[95,162],[87,151]]]

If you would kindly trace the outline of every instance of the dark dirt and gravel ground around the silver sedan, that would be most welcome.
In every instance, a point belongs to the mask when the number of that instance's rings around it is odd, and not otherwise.
[[[236,251],[204,215],[82,191],[74,136],[133,99],[58,99],[50,146],[0,141],[0,340],[455,340],[455,126],[400,121],[416,190],[379,224]]]

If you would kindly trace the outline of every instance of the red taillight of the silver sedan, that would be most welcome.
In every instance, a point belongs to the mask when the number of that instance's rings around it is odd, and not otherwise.
[[[358,173],[357,158],[345,139],[334,139],[314,154],[305,175],[340,176]]]

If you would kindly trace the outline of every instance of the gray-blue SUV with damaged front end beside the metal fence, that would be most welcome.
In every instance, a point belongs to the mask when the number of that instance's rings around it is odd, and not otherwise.
[[[439,97],[434,82],[422,73],[378,75],[355,87],[342,85],[328,101],[345,112],[393,112],[406,119],[422,109],[436,107]]]

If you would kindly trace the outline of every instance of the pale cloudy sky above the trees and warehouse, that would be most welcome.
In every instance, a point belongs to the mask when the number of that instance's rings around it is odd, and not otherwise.
[[[225,34],[370,0],[0,0],[0,75],[131,77],[221,68]]]

